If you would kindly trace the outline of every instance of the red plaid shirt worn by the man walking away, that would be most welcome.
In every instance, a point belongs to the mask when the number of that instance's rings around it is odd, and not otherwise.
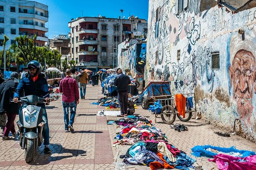
[[[62,101],[71,103],[79,101],[77,81],[70,76],[60,80],[60,93],[62,93]]]

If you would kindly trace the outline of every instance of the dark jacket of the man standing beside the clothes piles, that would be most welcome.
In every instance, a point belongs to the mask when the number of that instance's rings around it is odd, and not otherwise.
[[[114,80],[114,85],[117,87],[117,91],[128,91],[128,85],[130,84],[130,78],[128,75],[120,73],[116,76]]]

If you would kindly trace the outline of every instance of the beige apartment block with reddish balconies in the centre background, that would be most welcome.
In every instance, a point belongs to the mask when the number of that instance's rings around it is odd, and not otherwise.
[[[147,33],[147,21],[134,16],[129,19],[78,17],[68,22],[68,27],[69,56],[78,61],[79,68],[93,71],[116,66],[118,45],[121,39],[127,40],[127,34]]]

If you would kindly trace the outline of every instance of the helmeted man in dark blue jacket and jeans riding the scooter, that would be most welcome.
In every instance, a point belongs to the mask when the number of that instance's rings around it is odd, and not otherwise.
[[[47,80],[44,78],[44,75],[41,74],[42,66],[38,61],[30,61],[27,65],[28,67],[28,75],[23,77],[18,84],[17,90],[14,93],[13,101],[18,103],[20,96],[24,95],[36,95],[38,97],[44,98],[45,102],[49,102],[49,88],[47,84]],[[45,96],[45,97],[44,97]],[[43,136],[44,136],[44,153],[50,153],[51,150],[49,148],[49,126],[48,119],[46,113],[46,106],[44,103],[38,104],[37,106],[42,107],[42,119],[44,120],[43,127]],[[25,106],[26,107],[26,106]]]

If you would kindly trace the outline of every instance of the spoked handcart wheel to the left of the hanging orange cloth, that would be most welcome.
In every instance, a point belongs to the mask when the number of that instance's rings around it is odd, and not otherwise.
[[[175,121],[176,114],[172,106],[170,105],[163,106],[161,111],[161,119],[163,120],[164,123],[168,125],[170,125]]]

